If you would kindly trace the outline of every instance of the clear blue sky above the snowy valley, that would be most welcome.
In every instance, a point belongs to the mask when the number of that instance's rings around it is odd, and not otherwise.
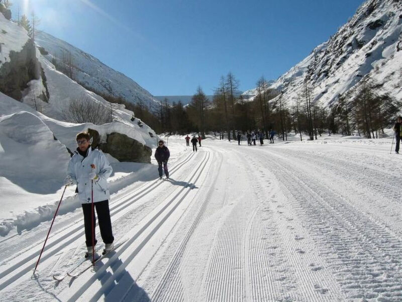
[[[212,94],[277,79],[325,42],[363,0],[12,0],[39,28],[123,72],[153,95]]]

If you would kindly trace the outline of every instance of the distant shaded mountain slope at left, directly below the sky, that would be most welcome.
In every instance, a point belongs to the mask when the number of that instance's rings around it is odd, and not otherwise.
[[[71,54],[73,79],[89,90],[114,97],[122,96],[132,103],[142,101],[151,107],[158,104],[148,91],[132,79],[92,55],[45,32],[38,32],[35,39],[37,45],[48,52],[45,57],[49,61],[61,63],[63,53]]]

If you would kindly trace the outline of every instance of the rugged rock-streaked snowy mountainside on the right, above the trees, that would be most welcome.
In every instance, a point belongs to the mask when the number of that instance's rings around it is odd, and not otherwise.
[[[271,89],[294,102],[306,78],[313,97],[330,106],[340,94],[354,92],[362,79],[377,93],[402,98],[402,2],[368,0],[327,42],[281,75]]]

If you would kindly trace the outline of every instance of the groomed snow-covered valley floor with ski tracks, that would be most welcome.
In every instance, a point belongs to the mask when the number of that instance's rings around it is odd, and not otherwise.
[[[390,138],[202,144],[169,138],[170,180],[154,164],[122,172],[110,208],[128,241],[96,270],[52,278],[82,259],[79,208],[56,217],[37,275],[50,221],[3,237],[0,301],[402,300]]]

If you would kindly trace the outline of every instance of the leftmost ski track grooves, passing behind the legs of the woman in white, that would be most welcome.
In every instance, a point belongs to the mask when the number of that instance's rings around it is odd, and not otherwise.
[[[184,164],[190,162],[193,158],[194,154],[190,154],[187,156],[183,161],[180,163],[175,164],[175,166],[171,169],[171,175],[174,172],[182,167]],[[134,203],[135,201],[141,199],[142,197],[146,196],[148,192],[153,190],[155,187],[160,186],[164,182],[154,181],[151,184],[145,184],[135,190],[132,193],[126,194],[118,198],[116,201],[111,202],[111,217],[112,221],[116,220],[115,215],[125,209],[125,211],[129,210],[129,206]],[[134,199],[135,198],[135,199]],[[128,203],[128,204],[127,204]],[[124,214],[124,213],[121,213]],[[72,222],[66,228],[60,230],[57,233],[52,234],[49,238],[49,241],[46,245],[46,249],[44,254],[41,258],[41,263],[39,264],[39,269],[42,270],[43,267],[46,267],[46,264],[49,264],[49,261],[53,260],[53,256],[58,255],[60,252],[65,253],[64,250],[70,245],[74,244],[79,238],[83,236],[83,224],[82,224],[82,217],[80,217],[79,226],[76,226],[78,221]],[[56,240],[52,241],[52,238],[56,238]],[[40,239],[41,241],[43,238]],[[14,287],[19,282],[23,281],[24,277],[29,278],[31,277],[32,269],[35,267],[36,259],[39,256],[40,249],[42,248],[42,242],[39,241],[34,246],[27,248],[21,255],[13,258],[11,260],[4,260],[3,262],[7,263],[1,267],[0,271],[0,290],[5,290],[7,287],[12,285]],[[32,253],[32,249],[35,248],[36,251]],[[49,261],[47,261],[49,260]],[[29,276],[28,276],[29,275]]]

